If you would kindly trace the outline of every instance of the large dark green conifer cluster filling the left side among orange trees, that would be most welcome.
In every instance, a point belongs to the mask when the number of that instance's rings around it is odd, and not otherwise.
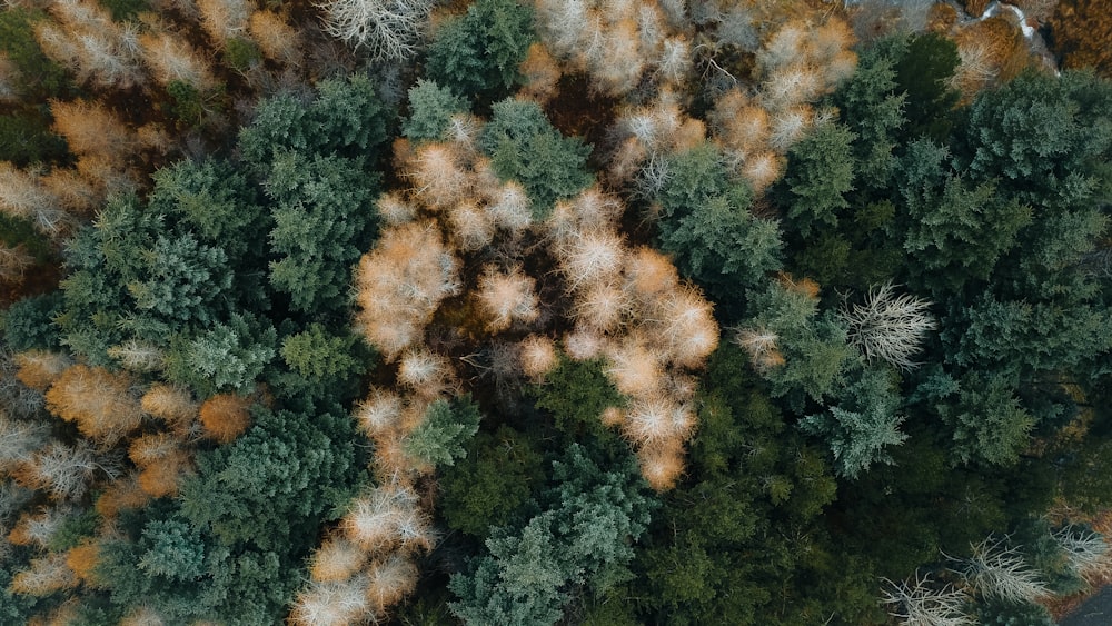
[[[178,444],[196,449],[177,497],[51,548],[64,557],[80,541],[97,546],[72,592],[81,623],[119,623],[140,607],[172,623],[262,625],[288,613],[321,524],[368,479],[346,407],[373,355],[349,328],[348,285],[376,236],[386,125],[365,78],[276,96],[238,155],[181,161],[146,198],[110,199],[68,244],[60,290],[7,311],[18,349],[66,348],[197,400],[256,394],[235,440],[198,444],[193,433]],[[128,463],[126,446],[105,454]]]

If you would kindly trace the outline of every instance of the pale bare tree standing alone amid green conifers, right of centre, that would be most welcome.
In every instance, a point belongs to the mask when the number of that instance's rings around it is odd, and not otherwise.
[[[914,296],[896,296],[894,286],[886,282],[870,290],[864,304],[843,310],[842,318],[850,325],[850,342],[866,358],[911,369],[927,330],[936,327],[927,312],[930,306]]]

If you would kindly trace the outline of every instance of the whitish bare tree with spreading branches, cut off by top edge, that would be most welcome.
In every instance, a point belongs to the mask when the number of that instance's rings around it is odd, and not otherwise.
[[[325,31],[376,61],[403,60],[417,52],[435,0],[330,0]]]

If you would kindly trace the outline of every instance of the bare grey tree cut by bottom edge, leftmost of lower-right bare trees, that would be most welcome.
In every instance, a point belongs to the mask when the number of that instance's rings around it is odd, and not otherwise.
[[[888,615],[900,620],[902,626],[966,626],[975,624],[965,614],[970,602],[969,594],[951,585],[937,587],[931,585],[931,575],[915,577],[901,583],[887,584],[881,595],[881,602],[892,608]]]

